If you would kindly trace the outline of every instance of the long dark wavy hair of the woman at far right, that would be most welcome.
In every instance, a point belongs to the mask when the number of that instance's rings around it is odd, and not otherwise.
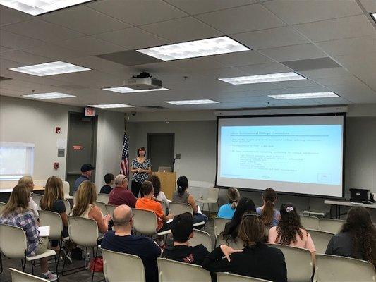
[[[364,252],[368,262],[376,266],[376,228],[373,226],[370,213],[365,207],[351,207],[347,213],[346,223],[341,228],[353,238],[353,256]]]

